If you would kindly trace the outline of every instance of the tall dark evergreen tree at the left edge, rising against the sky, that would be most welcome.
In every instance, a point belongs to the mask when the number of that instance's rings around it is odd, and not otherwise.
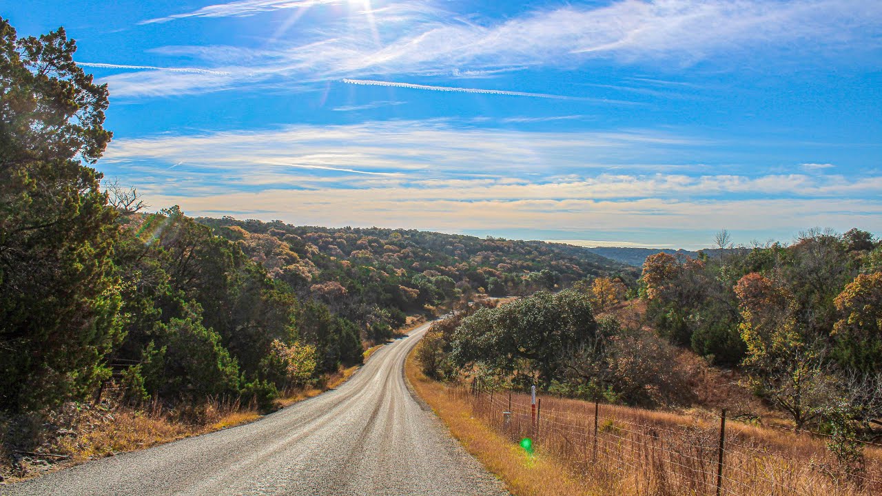
[[[120,338],[115,212],[86,165],[111,137],[108,90],[75,50],[0,19],[0,410],[86,395]]]

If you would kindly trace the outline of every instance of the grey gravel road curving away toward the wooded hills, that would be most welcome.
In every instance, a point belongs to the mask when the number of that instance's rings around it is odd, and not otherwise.
[[[339,388],[258,422],[0,485],[0,494],[508,494],[407,390],[404,359],[428,327],[377,350]]]

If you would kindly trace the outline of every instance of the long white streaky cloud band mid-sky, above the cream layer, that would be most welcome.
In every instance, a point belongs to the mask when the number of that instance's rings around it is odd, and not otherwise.
[[[104,163],[186,162],[202,169],[267,169],[303,164],[333,169],[400,173],[417,179],[539,174],[548,179],[574,171],[608,169],[622,157],[647,168],[665,149],[701,146],[672,133],[519,132],[456,129],[451,122],[386,121],[348,125],[291,125],[261,132],[117,139]],[[594,157],[594,161],[586,160]],[[605,157],[605,160],[600,160]],[[618,160],[619,157],[621,160]],[[636,161],[635,161],[636,162]],[[661,166],[661,169],[667,169]]]

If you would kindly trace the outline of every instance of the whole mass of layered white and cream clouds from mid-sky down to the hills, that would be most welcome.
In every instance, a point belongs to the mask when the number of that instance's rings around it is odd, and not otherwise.
[[[695,145],[660,132],[392,121],[118,139],[99,168],[143,184],[153,206],[318,225],[573,233],[725,226],[782,236],[813,225],[882,230],[882,176],[671,171],[666,155]],[[657,161],[656,169],[611,172],[609,162],[622,164],[623,156],[646,167]]]

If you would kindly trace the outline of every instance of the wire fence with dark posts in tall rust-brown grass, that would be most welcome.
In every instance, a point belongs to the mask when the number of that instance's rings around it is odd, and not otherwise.
[[[824,437],[733,421],[725,410],[684,416],[551,395],[532,404],[480,380],[449,391],[512,442],[528,439],[579,476],[638,495],[882,494],[882,449],[872,443],[849,464]]]

